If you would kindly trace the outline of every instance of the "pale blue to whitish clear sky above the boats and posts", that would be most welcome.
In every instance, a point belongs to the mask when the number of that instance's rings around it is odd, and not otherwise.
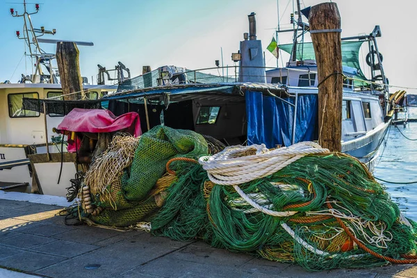
[[[21,74],[31,74],[31,61],[22,58],[24,42],[15,35],[17,30],[22,33],[22,17],[10,15],[10,8],[23,10],[19,1],[0,0],[0,82],[15,83]],[[36,1],[28,0],[29,10],[35,10]],[[302,8],[320,2],[302,0]],[[341,14],[342,36],[370,33],[379,25],[382,38],[377,42],[390,84],[417,88],[417,1],[333,2]],[[56,35],[44,38],[94,42],[93,47],[80,46],[79,51],[81,74],[90,81],[94,76],[96,84],[97,64],[113,69],[118,61],[129,67],[132,76],[140,75],[143,65],[152,70],[163,65],[195,70],[214,67],[215,60],[222,60],[222,49],[224,66],[234,65],[231,53],[238,51],[243,33],[248,32],[247,15],[252,12],[256,13],[266,65],[275,67],[277,60],[266,47],[278,20],[281,28],[290,26],[292,10],[292,0],[42,0],[39,13],[31,19],[35,28],[56,28]],[[281,33],[279,42],[291,42],[291,34]],[[42,48],[56,52],[54,44],[42,44]],[[285,63],[288,57],[284,58]],[[415,89],[408,91],[417,93]]]

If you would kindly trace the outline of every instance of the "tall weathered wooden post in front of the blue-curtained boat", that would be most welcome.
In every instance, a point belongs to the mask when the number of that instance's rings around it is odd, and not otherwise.
[[[331,152],[341,152],[343,75],[336,3],[311,7],[309,24],[318,72],[318,142]]]

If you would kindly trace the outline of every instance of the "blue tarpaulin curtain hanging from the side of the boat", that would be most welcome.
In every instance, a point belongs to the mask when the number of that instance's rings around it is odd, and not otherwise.
[[[261,92],[246,91],[247,142],[289,146],[293,138],[294,107],[277,97],[262,95]],[[295,97],[285,98],[295,104]],[[295,143],[315,140],[318,114],[318,96],[301,95],[297,101]]]

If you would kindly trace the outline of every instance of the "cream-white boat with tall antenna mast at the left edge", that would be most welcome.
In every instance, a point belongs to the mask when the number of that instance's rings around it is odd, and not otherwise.
[[[65,195],[65,188],[70,186],[76,167],[69,159],[65,159],[62,166],[60,163],[60,152],[66,153],[67,146],[53,129],[64,115],[42,114],[22,106],[23,98],[62,99],[59,73],[54,66],[55,54],[48,54],[40,45],[59,40],[41,38],[43,35],[56,35],[56,30],[49,31],[43,26],[33,28],[31,15],[38,13],[40,6],[35,4],[33,13],[29,13],[27,6],[23,1],[23,13],[11,8],[10,14],[24,21],[22,34],[16,31],[16,35],[26,44],[27,56],[35,67],[33,74],[22,74],[17,83],[0,83],[0,190]],[[76,44],[92,45],[90,42]],[[101,72],[104,73],[105,69]],[[92,85],[92,80],[83,77],[82,95],[85,99],[99,99],[116,88],[117,85],[104,85],[103,79],[101,85]],[[60,172],[62,177],[58,182]]]

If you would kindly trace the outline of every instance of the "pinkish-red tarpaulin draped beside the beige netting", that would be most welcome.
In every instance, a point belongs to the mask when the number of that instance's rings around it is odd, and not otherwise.
[[[74,108],[58,125],[60,131],[104,133],[128,129],[133,136],[142,135],[139,115],[130,112],[116,117],[108,110]]]

